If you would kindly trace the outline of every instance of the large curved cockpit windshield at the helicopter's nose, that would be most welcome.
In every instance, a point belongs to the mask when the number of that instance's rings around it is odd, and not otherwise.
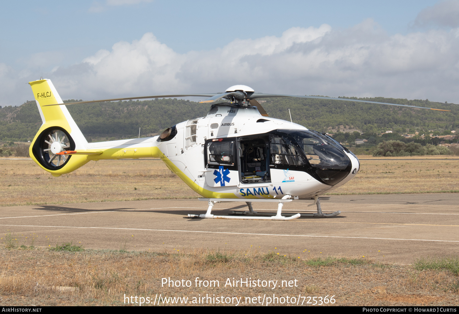
[[[319,133],[305,130],[279,131],[293,137],[313,167],[346,169],[351,162],[341,146]]]

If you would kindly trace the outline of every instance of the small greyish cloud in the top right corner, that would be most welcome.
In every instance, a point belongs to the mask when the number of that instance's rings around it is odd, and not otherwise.
[[[459,27],[459,0],[442,1],[420,11],[414,20],[414,25],[425,26],[429,24]]]

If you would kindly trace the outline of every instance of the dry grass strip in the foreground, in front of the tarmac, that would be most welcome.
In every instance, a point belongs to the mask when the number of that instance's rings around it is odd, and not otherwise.
[[[218,252],[201,249],[168,253],[55,252],[45,248],[13,248],[0,249],[0,258],[0,306],[124,305],[125,294],[144,297],[145,302],[146,297],[150,297],[151,303],[160,294],[166,298],[188,297],[187,305],[195,305],[193,297],[208,294],[223,296],[226,302],[229,301],[226,297],[238,297],[241,298],[239,305],[254,305],[244,304],[246,297],[260,296],[257,301],[261,303],[263,295],[272,297],[273,293],[284,297],[284,305],[291,305],[285,303],[286,296],[296,297],[295,301],[300,297],[299,304],[304,302],[303,306],[313,305],[307,304],[313,299],[302,297],[334,296],[334,305],[341,306],[451,306],[458,303],[459,296],[456,268],[426,269],[419,263],[414,266],[378,264],[367,257],[310,256],[300,260],[255,250]],[[164,277],[190,280],[190,287],[162,287]],[[196,287],[196,277],[218,280],[219,287]],[[233,278],[278,280],[278,286],[275,289],[272,285],[230,287],[225,286],[227,278],[231,281]],[[297,280],[297,287],[294,281],[292,287],[279,287],[282,280]],[[267,300],[263,305],[266,306]],[[151,303],[143,305],[153,305]],[[160,305],[171,305],[170,299],[169,304],[161,302]],[[179,305],[185,304],[179,302]]]

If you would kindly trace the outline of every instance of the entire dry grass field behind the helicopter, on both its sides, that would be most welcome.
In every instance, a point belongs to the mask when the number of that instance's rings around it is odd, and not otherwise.
[[[459,192],[459,157],[361,156],[330,194]],[[0,158],[0,206],[196,198],[159,159],[101,160],[53,177],[30,159]]]

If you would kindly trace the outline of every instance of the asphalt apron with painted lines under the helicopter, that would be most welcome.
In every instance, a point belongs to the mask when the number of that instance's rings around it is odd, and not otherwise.
[[[284,212],[313,212],[310,203],[286,203]],[[161,252],[257,249],[300,258],[365,256],[398,264],[459,255],[459,193],[331,196],[321,205],[324,212],[341,214],[291,221],[189,219],[188,213],[207,209],[198,200],[1,207],[0,231],[1,236],[11,232],[18,245],[30,245],[35,237],[34,244],[44,247],[71,241],[85,248]],[[274,212],[277,205],[253,207]],[[224,202],[212,213],[244,208],[242,202]]]

